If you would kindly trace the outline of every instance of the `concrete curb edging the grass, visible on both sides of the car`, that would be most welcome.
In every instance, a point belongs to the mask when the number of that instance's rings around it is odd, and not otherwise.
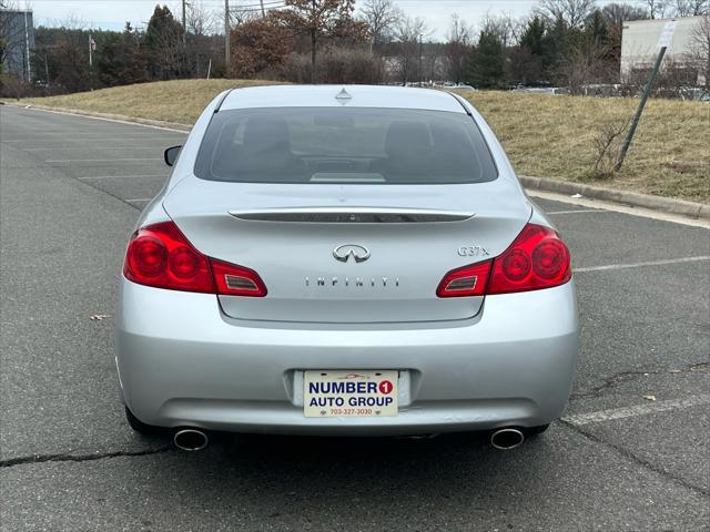
[[[90,116],[94,119],[105,119],[116,122],[130,122],[153,127],[166,127],[190,132],[191,125],[178,122],[164,122],[161,120],[139,119],[133,116],[124,116],[120,114],[95,113],[92,111],[79,111],[75,109],[51,108],[48,105],[26,105],[14,102],[0,102],[17,108],[39,109],[42,111],[54,111],[68,114],[78,114],[81,116]],[[565,181],[550,180],[546,177],[530,177],[519,175],[518,180],[525,188],[556,192],[558,194],[581,194],[588,200],[601,200],[605,202],[619,203],[633,207],[649,208],[651,211],[660,211],[668,214],[677,214],[688,216],[690,218],[710,219],[710,205],[702,203],[688,202],[686,200],[673,200],[670,197],[652,196],[650,194],[639,194],[638,192],[619,191],[615,188],[605,188],[601,186],[585,185],[582,183],[569,183]]]

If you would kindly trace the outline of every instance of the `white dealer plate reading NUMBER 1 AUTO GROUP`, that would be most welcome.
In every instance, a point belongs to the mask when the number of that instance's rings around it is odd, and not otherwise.
[[[358,418],[397,415],[397,370],[306,370],[306,418]]]

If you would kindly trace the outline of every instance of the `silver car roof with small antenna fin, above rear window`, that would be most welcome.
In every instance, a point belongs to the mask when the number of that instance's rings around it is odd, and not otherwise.
[[[386,85],[267,85],[232,90],[220,109],[387,108],[465,113],[445,91]]]

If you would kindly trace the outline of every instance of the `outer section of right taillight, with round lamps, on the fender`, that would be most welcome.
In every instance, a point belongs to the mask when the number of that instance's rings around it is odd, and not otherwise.
[[[556,231],[528,224],[493,263],[487,294],[538,290],[567,283],[569,250]]]

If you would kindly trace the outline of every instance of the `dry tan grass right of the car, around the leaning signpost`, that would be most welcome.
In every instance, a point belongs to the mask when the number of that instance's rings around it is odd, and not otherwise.
[[[521,175],[708,202],[710,104],[649,100],[621,172],[599,181],[595,141],[606,124],[631,116],[638,100],[510,92],[465,96]]]

